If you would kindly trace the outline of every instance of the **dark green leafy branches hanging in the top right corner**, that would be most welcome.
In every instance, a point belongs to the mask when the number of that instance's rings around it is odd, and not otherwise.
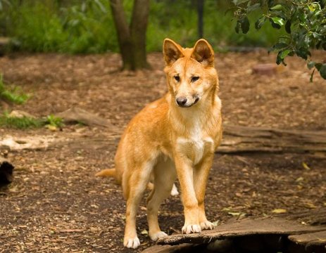
[[[255,22],[256,29],[261,29],[269,21],[273,28],[283,28],[285,32],[270,49],[277,52],[276,63],[286,65],[284,59],[296,55],[307,61],[309,69],[314,67],[311,81],[315,70],[326,79],[326,63],[315,63],[311,60],[310,52],[311,48],[326,50],[325,0],[233,0],[233,3],[237,6],[234,11],[237,32],[248,32],[250,23],[243,27],[243,20],[257,8],[263,9]]]

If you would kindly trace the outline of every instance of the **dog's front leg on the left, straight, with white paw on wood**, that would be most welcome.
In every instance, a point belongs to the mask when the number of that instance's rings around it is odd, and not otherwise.
[[[184,207],[184,226],[182,233],[199,233],[199,207],[194,190],[194,167],[192,161],[186,156],[175,156],[175,168],[180,181],[182,203]]]

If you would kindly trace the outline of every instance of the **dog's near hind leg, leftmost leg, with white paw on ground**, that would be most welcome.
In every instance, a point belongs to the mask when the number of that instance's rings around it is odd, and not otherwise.
[[[142,200],[144,190],[151,176],[153,162],[145,162],[139,167],[126,170],[123,175],[123,192],[127,200],[125,214],[125,237],[123,245],[125,247],[136,249],[139,245],[139,239],[136,231],[136,216],[139,202]]]

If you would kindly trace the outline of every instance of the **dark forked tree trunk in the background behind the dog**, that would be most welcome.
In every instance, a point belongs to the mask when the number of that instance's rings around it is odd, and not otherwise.
[[[123,70],[149,67],[146,60],[146,28],[149,0],[134,0],[130,27],[121,0],[110,0],[111,11],[118,34],[118,44],[123,58]]]

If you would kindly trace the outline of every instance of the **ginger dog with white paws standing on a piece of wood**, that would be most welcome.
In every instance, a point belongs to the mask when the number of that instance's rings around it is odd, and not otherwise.
[[[184,207],[182,233],[213,229],[206,219],[204,197],[213,155],[222,138],[221,101],[214,51],[199,39],[182,48],[171,39],[163,43],[168,93],[146,105],[130,121],[115,154],[115,168],[97,176],[114,176],[127,200],[123,245],[140,245],[136,231],[139,202],[149,181],[147,198],[149,237],[167,236],[158,225],[158,209],[180,182]]]

